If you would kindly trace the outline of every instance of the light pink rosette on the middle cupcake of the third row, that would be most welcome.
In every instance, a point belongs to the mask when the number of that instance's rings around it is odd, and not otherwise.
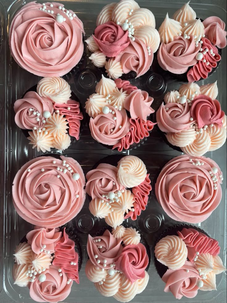
[[[93,199],[103,199],[102,195],[108,194],[110,191],[125,189],[124,186],[118,183],[118,169],[110,164],[101,163],[96,169],[89,171],[86,174],[86,192]],[[104,198],[105,199],[105,198]]]

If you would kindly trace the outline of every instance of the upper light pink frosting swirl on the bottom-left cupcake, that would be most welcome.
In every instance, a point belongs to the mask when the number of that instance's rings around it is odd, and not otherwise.
[[[46,245],[45,250],[52,254],[61,236],[62,232],[59,231],[59,228],[40,228],[35,226],[33,230],[27,233],[26,238],[35,254],[40,254],[40,249],[43,249],[43,245]]]

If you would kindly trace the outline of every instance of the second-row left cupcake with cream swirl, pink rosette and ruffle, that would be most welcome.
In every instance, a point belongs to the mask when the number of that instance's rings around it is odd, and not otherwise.
[[[14,112],[17,126],[38,152],[65,150],[79,140],[82,107],[70,85],[60,77],[41,79],[16,100]]]

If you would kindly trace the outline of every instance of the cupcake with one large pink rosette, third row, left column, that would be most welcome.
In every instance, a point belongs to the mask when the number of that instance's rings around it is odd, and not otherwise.
[[[85,202],[85,177],[69,157],[43,156],[28,161],[12,186],[14,207],[24,220],[56,228],[72,220]]]

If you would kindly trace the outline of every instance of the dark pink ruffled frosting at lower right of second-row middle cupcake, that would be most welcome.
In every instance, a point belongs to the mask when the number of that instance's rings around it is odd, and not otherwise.
[[[130,130],[124,138],[120,140],[117,144],[113,146],[112,149],[118,148],[121,152],[123,149],[129,149],[130,145],[133,143],[139,143],[143,138],[149,137],[149,132],[153,130],[156,123],[150,120],[131,119],[130,118]]]

